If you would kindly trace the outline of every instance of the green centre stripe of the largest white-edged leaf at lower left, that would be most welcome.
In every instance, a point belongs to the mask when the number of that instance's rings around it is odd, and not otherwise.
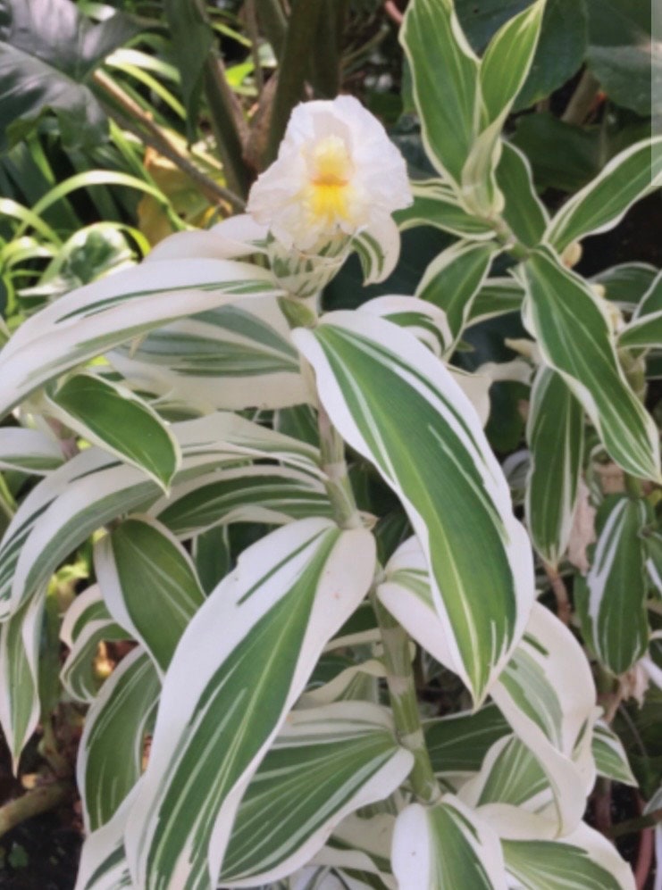
[[[307,539],[259,582],[267,583],[322,534],[325,537],[319,541],[312,561],[289,592],[250,629],[240,648],[214,672],[197,701],[179,756],[171,764],[168,785],[157,803],[158,811],[168,817],[159,820],[149,845],[146,871],[150,890],[171,886],[167,876],[178,873],[180,857],[189,858],[190,843],[195,843],[198,850],[185,886],[207,886],[206,855],[200,855],[200,851],[206,850],[223,799],[280,719],[317,581],[339,533],[330,534],[327,528],[312,541]],[[184,849],[182,826],[186,826]]]

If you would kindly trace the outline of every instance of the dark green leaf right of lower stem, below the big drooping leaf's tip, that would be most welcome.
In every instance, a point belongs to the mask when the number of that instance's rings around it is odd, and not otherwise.
[[[425,720],[423,733],[438,776],[478,772],[490,747],[510,732],[496,705]]]

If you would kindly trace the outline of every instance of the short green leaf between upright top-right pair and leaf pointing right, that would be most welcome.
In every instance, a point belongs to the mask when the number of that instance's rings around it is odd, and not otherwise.
[[[504,142],[501,148],[497,184],[505,201],[502,216],[515,237],[529,247],[539,245],[549,214],[536,195],[526,155],[509,142]]]

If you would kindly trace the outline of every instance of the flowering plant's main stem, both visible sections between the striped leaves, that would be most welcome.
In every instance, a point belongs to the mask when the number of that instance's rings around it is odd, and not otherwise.
[[[322,467],[329,478],[327,492],[331,498],[335,520],[340,528],[360,528],[361,517],[356,508],[345,462],[345,444],[322,407],[318,426]],[[381,631],[386,682],[396,731],[400,744],[414,755],[414,769],[409,780],[416,797],[422,803],[436,803],[440,799],[441,789],[423,736],[409,636],[390,611],[381,605],[374,591],[371,599]]]

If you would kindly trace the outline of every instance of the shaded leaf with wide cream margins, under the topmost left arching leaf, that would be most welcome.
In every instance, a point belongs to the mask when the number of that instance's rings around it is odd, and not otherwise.
[[[204,411],[283,408],[307,399],[275,297],[175,321],[152,330],[137,349],[122,345],[107,357],[131,386]]]

